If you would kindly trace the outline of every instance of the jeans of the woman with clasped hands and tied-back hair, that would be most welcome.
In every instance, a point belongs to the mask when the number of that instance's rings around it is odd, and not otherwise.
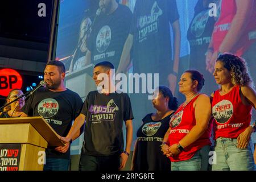
[[[210,146],[204,146],[196,151],[195,155],[188,160],[171,162],[171,171],[207,171],[209,170]]]

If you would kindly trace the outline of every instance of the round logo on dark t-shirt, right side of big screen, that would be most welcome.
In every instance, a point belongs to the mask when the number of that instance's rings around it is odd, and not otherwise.
[[[191,24],[191,34],[196,38],[203,35],[209,19],[209,10],[203,11],[196,15]]]

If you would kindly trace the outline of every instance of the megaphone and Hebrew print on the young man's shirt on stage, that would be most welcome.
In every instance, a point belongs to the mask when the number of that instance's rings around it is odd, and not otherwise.
[[[114,121],[115,111],[118,111],[119,108],[115,104],[114,100],[110,100],[107,106],[101,105],[90,105],[90,119],[93,123],[100,121]]]

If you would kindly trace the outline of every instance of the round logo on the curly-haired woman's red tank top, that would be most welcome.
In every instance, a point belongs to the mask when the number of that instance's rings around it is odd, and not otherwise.
[[[233,105],[232,102],[228,100],[222,100],[218,102],[212,108],[213,117],[218,123],[226,123],[233,115]]]

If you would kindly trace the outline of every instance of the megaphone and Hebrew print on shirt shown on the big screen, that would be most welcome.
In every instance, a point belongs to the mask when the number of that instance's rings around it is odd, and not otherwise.
[[[159,27],[159,16],[163,14],[163,11],[155,1],[151,9],[150,15],[141,16],[138,18],[139,28],[139,42],[147,39],[147,36],[158,32]]]

